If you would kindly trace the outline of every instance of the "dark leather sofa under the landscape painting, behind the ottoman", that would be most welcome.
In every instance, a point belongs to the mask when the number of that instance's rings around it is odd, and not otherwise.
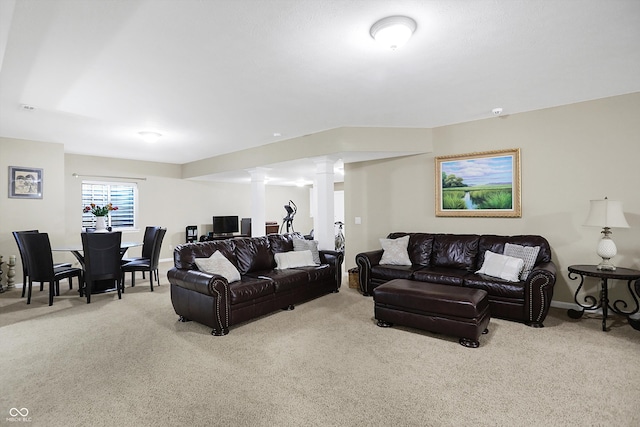
[[[556,266],[545,238],[429,233],[391,233],[388,238],[406,235],[410,236],[407,251],[411,266],[380,265],[382,249],[356,255],[359,286],[365,296],[371,296],[374,288],[392,279],[484,289],[489,294],[492,317],[543,326],[556,281]],[[527,279],[509,282],[476,274],[484,262],[485,251],[502,254],[506,243],[540,247]]]

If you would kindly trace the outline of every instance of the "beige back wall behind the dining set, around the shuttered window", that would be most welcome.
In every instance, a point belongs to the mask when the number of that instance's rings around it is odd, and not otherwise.
[[[123,240],[141,241],[145,225],[167,227],[161,258],[171,258],[175,245],[184,242],[185,227],[198,225],[200,232],[211,230],[213,215],[251,216],[251,185],[183,180],[179,165],[140,162],[103,157],[64,154],[62,144],[0,138],[0,181],[7,183],[8,166],[44,170],[44,192],[40,200],[9,199],[8,185],[0,186],[0,255],[19,254],[11,231],[37,228],[49,233],[52,245],[79,243],[82,202],[80,175],[141,177],[138,224],[141,230],[126,232]],[[92,178],[85,178],[92,179]],[[98,179],[98,178],[95,178]],[[301,232],[313,228],[308,188],[267,186],[265,189],[268,221],[282,223],[284,205],[293,200],[298,213],[294,227]],[[129,250],[135,256],[139,248]],[[55,252],[56,261],[75,262],[72,255]],[[18,265],[18,270],[21,268]],[[5,280],[6,280],[6,269]],[[16,282],[20,283],[20,275]]]

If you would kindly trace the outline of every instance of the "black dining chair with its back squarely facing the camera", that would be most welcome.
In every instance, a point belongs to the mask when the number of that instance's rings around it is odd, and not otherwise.
[[[122,298],[123,273],[120,268],[120,243],[122,232],[81,233],[82,252],[84,253],[84,283],[80,292],[91,303],[94,282],[112,280],[118,290],[118,299]]]

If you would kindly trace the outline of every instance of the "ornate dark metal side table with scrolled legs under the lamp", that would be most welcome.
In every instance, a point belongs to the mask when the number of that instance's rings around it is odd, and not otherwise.
[[[597,300],[593,295],[586,295],[584,297],[584,302],[586,305],[583,305],[578,301],[578,293],[580,289],[582,289],[582,285],[584,284],[585,276],[588,277],[597,277],[600,279],[600,299]],[[576,294],[574,295],[574,300],[576,304],[582,307],[582,310],[573,310],[570,309],[567,314],[572,319],[579,319],[584,314],[585,310],[597,310],[602,308],[602,330],[607,331],[607,315],[608,310],[613,311],[614,313],[620,314],[622,316],[626,316],[629,324],[633,329],[637,329],[640,331],[640,320],[631,319],[629,316],[635,314],[640,309],[638,305],[638,298],[636,298],[633,289],[631,289],[631,284],[634,281],[636,282],[636,289],[640,289],[640,270],[634,270],[631,268],[621,268],[618,267],[615,270],[598,270],[595,265],[571,265],[569,266],[569,279],[577,280],[580,277],[580,285],[578,289],[576,289]],[[635,308],[631,311],[625,311],[629,305],[623,300],[616,300],[611,302],[609,301],[609,288],[608,288],[608,280],[616,279],[616,280],[626,280],[627,288],[629,289],[629,293],[633,298],[635,303]]]

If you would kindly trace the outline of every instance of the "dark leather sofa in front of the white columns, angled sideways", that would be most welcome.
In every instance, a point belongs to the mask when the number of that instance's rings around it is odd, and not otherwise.
[[[171,302],[182,321],[193,320],[226,335],[229,327],[295,304],[338,292],[342,281],[340,252],[319,251],[321,264],[275,269],[274,254],[293,251],[296,234],[186,243],[173,252],[174,267],[167,277]],[[223,276],[199,271],[196,258],[220,251],[240,272],[229,283]]]

